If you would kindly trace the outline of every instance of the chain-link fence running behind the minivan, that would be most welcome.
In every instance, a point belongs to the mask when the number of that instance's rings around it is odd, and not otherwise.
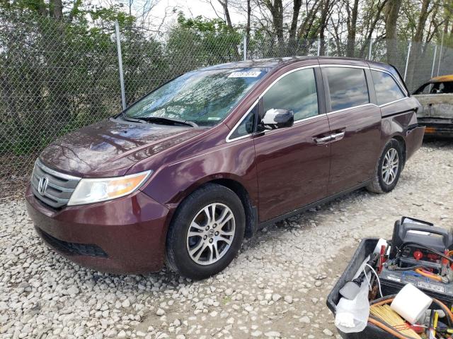
[[[391,62],[411,90],[432,75],[453,73],[453,49],[435,44],[279,42],[258,32],[246,42],[237,32],[178,26],[157,37],[134,25],[119,31],[115,35],[113,22],[0,13],[0,177],[29,172],[55,138],[120,112],[121,68],[125,105],[180,73],[244,57],[326,55]]]

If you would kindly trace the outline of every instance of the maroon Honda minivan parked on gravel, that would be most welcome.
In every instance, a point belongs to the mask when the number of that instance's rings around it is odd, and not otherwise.
[[[224,269],[243,237],[361,187],[396,186],[420,104],[394,67],[241,61],[183,74],[49,145],[26,193],[40,237],[112,273]]]

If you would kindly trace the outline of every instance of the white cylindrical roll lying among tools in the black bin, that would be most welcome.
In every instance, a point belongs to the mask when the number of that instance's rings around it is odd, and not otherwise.
[[[412,284],[404,286],[396,295],[390,308],[409,323],[414,324],[425,314],[432,299]]]

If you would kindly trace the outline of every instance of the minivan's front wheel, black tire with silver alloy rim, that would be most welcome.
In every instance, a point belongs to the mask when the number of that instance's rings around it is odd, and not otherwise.
[[[206,184],[185,198],[173,216],[166,239],[167,265],[194,280],[219,273],[239,251],[245,226],[239,197],[224,186]]]

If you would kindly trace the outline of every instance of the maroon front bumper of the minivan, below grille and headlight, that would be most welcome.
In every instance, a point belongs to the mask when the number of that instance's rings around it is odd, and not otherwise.
[[[113,201],[54,210],[25,194],[28,215],[47,245],[108,273],[147,273],[164,264],[169,211],[137,191]]]

